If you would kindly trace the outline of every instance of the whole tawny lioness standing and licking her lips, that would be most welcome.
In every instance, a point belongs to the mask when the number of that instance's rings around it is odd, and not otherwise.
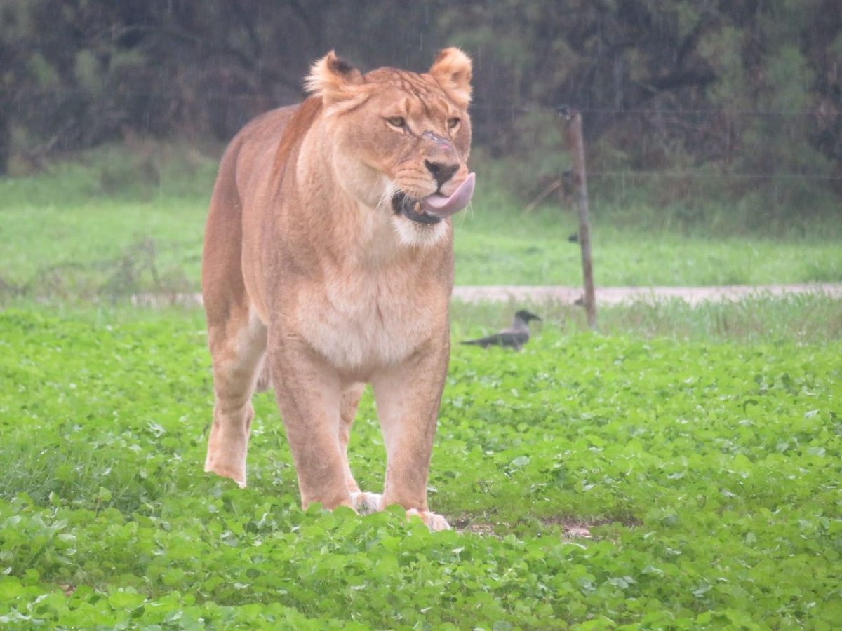
[[[266,363],[301,503],[400,504],[429,528],[427,475],[450,355],[449,216],[471,199],[471,61],[362,74],[333,52],[309,98],[254,119],[222,157],[202,262],[213,427],[205,471],[246,485],[251,396]],[[386,444],[382,495],[346,449],[365,383]]]

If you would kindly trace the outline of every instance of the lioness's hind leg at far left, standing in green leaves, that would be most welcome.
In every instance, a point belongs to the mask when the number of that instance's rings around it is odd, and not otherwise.
[[[209,326],[216,404],[205,471],[246,485],[246,453],[254,408],[252,393],[266,349],[266,327],[252,310],[233,311]]]

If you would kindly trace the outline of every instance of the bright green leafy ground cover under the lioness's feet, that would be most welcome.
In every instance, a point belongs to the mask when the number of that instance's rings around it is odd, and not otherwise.
[[[487,332],[467,313],[456,339]],[[555,318],[456,345],[430,496],[460,530],[431,534],[302,512],[268,394],[249,488],[202,473],[200,312],[5,310],[0,626],[835,628],[840,353]],[[369,395],[351,465],[379,488]]]

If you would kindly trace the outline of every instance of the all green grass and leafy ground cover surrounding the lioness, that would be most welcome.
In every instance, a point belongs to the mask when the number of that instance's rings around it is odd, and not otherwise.
[[[839,300],[600,307],[600,335],[529,305],[524,352],[453,347],[429,493],[459,531],[302,512],[272,395],[249,488],[202,472],[200,310],[120,306],[197,289],[215,169],[141,146],[0,180],[0,627],[837,626]],[[578,284],[572,213],[521,216],[480,180],[457,283]],[[833,218],[761,238],[598,198],[598,284],[842,280]],[[453,305],[454,342],[520,306]],[[383,451],[366,393],[350,452],[369,490]]]

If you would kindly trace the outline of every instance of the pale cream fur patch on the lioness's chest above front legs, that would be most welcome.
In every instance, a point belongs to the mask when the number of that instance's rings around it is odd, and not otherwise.
[[[301,334],[341,372],[365,374],[402,362],[441,320],[424,304],[424,288],[399,275],[336,278],[320,289],[299,301]]]

